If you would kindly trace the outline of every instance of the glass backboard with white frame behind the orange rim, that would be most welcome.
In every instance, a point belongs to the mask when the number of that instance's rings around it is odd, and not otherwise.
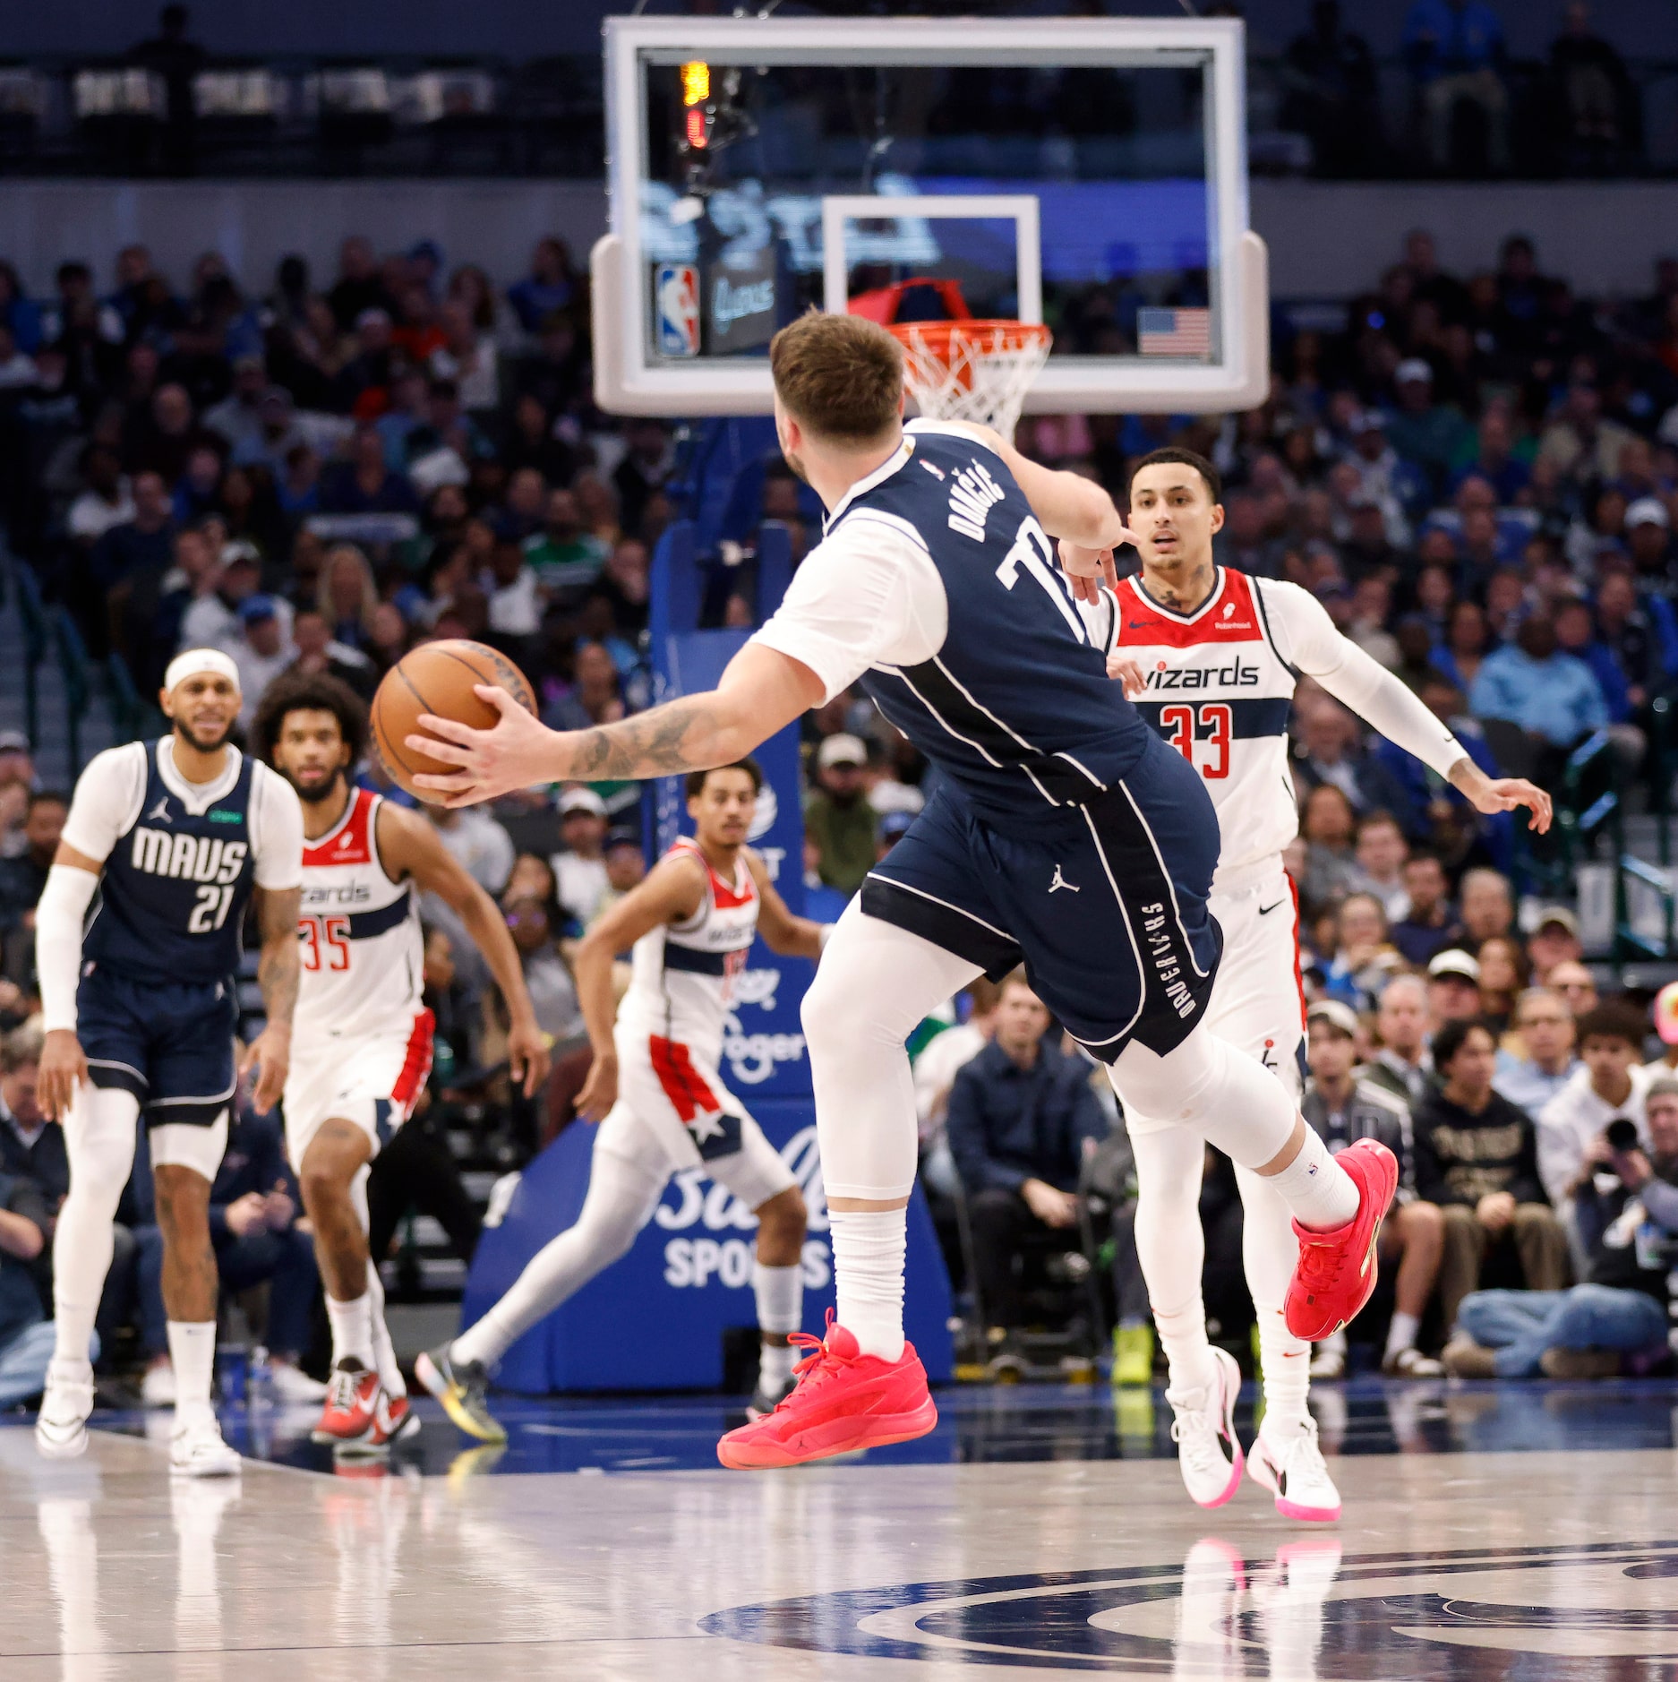
[[[1263,400],[1239,20],[610,19],[605,59],[602,407],[767,412],[778,326],[883,298],[1046,321],[1027,410]]]

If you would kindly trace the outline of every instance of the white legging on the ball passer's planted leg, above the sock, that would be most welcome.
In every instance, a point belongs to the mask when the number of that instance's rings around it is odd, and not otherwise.
[[[883,1203],[915,1186],[915,1083],[905,1041],[979,965],[852,900],[804,996],[804,1041],[829,1198]]]

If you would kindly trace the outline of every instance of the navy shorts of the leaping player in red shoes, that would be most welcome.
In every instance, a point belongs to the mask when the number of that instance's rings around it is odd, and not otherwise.
[[[1200,774],[1150,733],[1128,777],[1031,834],[1005,834],[938,789],[863,883],[863,912],[992,981],[1024,964],[1103,1063],[1132,1039],[1164,1056],[1199,1026],[1217,972],[1217,849]]]

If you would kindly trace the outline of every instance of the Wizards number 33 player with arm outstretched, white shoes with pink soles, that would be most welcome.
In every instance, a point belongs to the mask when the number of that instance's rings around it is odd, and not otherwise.
[[[1449,730],[1392,673],[1340,636],[1322,604],[1295,584],[1253,579],[1212,560],[1222,525],[1217,469],[1187,449],[1145,456],[1130,481],[1130,528],[1142,572],[1108,604],[1108,671],[1138,711],[1206,779],[1222,848],[1212,915],[1224,957],[1206,1026],[1258,1058],[1298,1102],[1305,997],[1300,987],[1298,898],[1283,848],[1298,833],[1288,770],[1288,713],[1298,678],[1315,678],[1390,742],[1449,780],[1481,812],[1532,809],[1550,822],[1550,799],[1517,777],[1488,779]],[[1153,1320],[1170,1361],[1167,1399],[1177,1415],[1179,1463],[1204,1507],[1229,1500],[1243,1457],[1231,1416],[1241,1374],[1206,1336],[1200,1302],[1199,1196],[1202,1152],[1167,1120],[1127,1107],[1137,1156],[1137,1250]],[[1340,1495],[1317,1448],[1305,1406],[1310,1344],[1288,1332],[1283,1295],[1298,1260],[1286,1206],[1236,1166],[1246,1208],[1244,1262],[1258,1310],[1264,1423],[1248,1465],[1293,1519],[1340,1515]],[[1406,1208],[1390,1216],[1404,1236]],[[1401,1295],[1402,1295],[1401,1270]],[[1419,1307],[1419,1305],[1417,1305]],[[1419,1314],[1394,1315],[1389,1371],[1416,1369]]]

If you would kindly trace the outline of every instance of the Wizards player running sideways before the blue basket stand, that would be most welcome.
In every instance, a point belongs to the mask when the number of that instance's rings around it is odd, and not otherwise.
[[[752,760],[694,772],[693,836],[577,949],[577,997],[594,1046],[577,1112],[600,1122],[582,1213],[471,1330],[415,1362],[425,1388],[472,1436],[506,1441],[486,1403],[496,1362],[629,1251],[683,1169],[703,1167],[758,1219],[752,1290],[763,1342],[750,1413],[770,1413],[792,1389],[789,1339],[804,1319],[804,1194],[718,1073],[733,981],[755,935],[787,957],[817,959],[822,949],[822,925],[787,910],[763,860],[745,844],[762,787]],[[614,1024],[612,959],[631,947],[632,979]]]

